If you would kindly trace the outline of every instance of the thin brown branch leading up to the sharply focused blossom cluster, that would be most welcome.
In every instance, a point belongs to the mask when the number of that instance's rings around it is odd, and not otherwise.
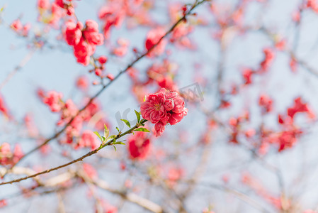
[[[27,180],[27,179],[29,179],[29,178],[35,178],[35,177],[37,177],[38,175],[43,175],[43,174],[45,174],[45,173],[50,173],[50,172],[52,172],[52,171],[54,171],[54,170],[58,170],[58,169],[60,169],[60,168],[67,167],[68,165],[72,165],[73,163],[79,162],[79,161],[83,160],[84,158],[87,158],[87,157],[89,157],[89,156],[91,156],[91,155],[93,155],[93,154],[96,154],[96,153],[97,153],[98,151],[100,151],[102,148],[104,148],[104,147],[106,147],[106,146],[113,145],[113,142],[115,142],[115,140],[117,140],[118,138],[121,138],[121,137],[127,135],[128,133],[132,133],[132,131],[134,131],[135,129],[137,129],[139,126],[142,126],[142,124],[144,124],[146,121],[147,121],[147,120],[142,119],[139,124],[136,124],[135,126],[133,126],[132,128],[130,128],[129,130],[125,131],[124,133],[118,133],[118,135],[115,136],[115,138],[113,138],[112,140],[110,140],[110,141],[108,141],[107,143],[101,145],[100,147],[96,148],[95,150],[90,151],[89,153],[86,153],[86,155],[83,155],[83,156],[81,156],[80,158],[77,158],[77,159],[75,159],[75,160],[72,160],[72,161],[69,162],[69,163],[65,163],[65,164],[59,165],[59,166],[57,166],[57,167],[55,167],[55,168],[50,168],[50,169],[48,169],[48,170],[44,170],[44,171],[42,171],[42,172],[40,172],[40,173],[35,173],[35,174],[33,174],[33,175],[28,175],[28,176],[26,176],[26,177],[24,177],[24,178],[18,178],[18,179],[16,179],[16,180],[11,180],[11,181],[7,181],[7,182],[1,182],[0,185],[12,184],[13,182],[21,182],[22,180]]]

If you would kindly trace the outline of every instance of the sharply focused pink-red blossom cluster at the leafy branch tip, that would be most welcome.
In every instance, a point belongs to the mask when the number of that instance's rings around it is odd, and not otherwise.
[[[166,124],[177,124],[188,114],[184,107],[184,99],[177,92],[169,92],[161,88],[159,92],[148,94],[142,102],[140,112],[144,119],[154,125],[154,133],[161,136]]]

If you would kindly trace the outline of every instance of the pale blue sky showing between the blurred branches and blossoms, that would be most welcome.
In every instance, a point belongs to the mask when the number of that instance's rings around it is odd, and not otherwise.
[[[164,7],[166,2],[168,1],[157,1],[156,4],[158,4],[159,7],[153,13],[156,20],[163,23],[168,21],[166,18],[167,11]],[[233,4],[234,1],[226,2]],[[262,23],[265,26],[268,26],[268,28],[273,29],[273,31],[288,36],[290,40],[293,40],[295,28],[293,23],[290,22],[290,16],[297,8],[298,2],[299,1],[296,0],[269,1],[266,8],[263,8],[260,4],[251,4],[246,16],[246,23],[255,24],[256,17],[259,17],[261,12],[265,11]],[[76,16],[79,17],[79,20],[82,22],[89,18],[97,21],[96,11],[101,5],[103,5],[103,1],[78,1]],[[38,11],[36,11],[36,1],[1,0],[0,6],[5,6],[4,13],[2,13],[4,23],[0,24],[0,82],[2,82],[8,73],[11,72],[11,70],[18,65],[18,62],[20,62],[30,51],[25,48],[25,40],[23,38],[18,38],[18,36],[8,28],[8,25],[16,18],[21,17],[22,23],[30,22],[33,24],[31,34],[33,30],[41,30],[42,26],[40,23],[35,22],[38,16]],[[201,6],[196,11],[199,14],[207,13],[205,6]],[[314,13],[305,13],[303,18],[297,53],[300,58],[306,60],[312,67],[318,67],[316,65],[316,45],[318,43],[317,15]],[[130,50],[135,47],[139,50],[143,50],[144,38],[147,31],[149,31],[149,28],[144,27],[129,32],[125,29],[114,30],[109,44],[114,45],[117,38],[122,37],[130,40]],[[204,26],[195,29],[195,32],[191,35],[191,38],[193,38],[198,45],[198,50],[195,50],[195,52],[168,47],[173,50],[171,60],[178,62],[178,76],[176,79],[178,87],[185,87],[186,85],[195,82],[194,77],[198,75],[198,70],[195,70],[193,66],[195,62],[203,66],[203,75],[205,79],[210,82],[210,89],[203,88],[203,90],[205,90],[205,100],[200,104],[205,107],[212,107],[213,104],[215,104],[215,94],[213,91],[215,89],[215,70],[217,67],[217,60],[219,60],[219,52],[217,43],[211,40],[212,31],[213,26]],[[1,95],[4,97],[11,114],[19,120],[23,118],[25,113],[31,112],[35,116],[35,123],[43,136],[52,135],[55,131],[53,126],[56,123],[58,116],[57,114],[50,113],[44,104],[40,104],[40,101],[36,96],[36,89],[38,87],[42,87],[47,91],[54,89],[58,92],[62,92],[65,98],[74,97],[74,100],[77,101],[77,103],[80,103],[81,94],[74,92],[74,80],[79,75],[86,75],[88,70],[86,67],[76,63],[74,55],[72,54],[72,49],[69,48],[69,46],[64,42],[56,42],[54,38],[58,33],[59,31],[52,31],[52,33],[50,33],[49,41],[50,43],[52,42],[52,45],[58,45],[61,48],[53,50],[44,48],[43,50],[37,50],[31,60],[16,75],[14,75],[3,89],[1,89]],[[229,84],[229,82],[241,82],[241,72],[239,72],[238,67],[243,67],[245,65],[256,67],[263,58],[261,50],[268,45],[271,45],[271,42],[266,36],[259,32],[247,33],[242,36],[239,36],[236,33],[228,50],[227,63],[225,65],[224,87],[228,88],[229,86],[227,86],[227,83]],[[108,55],[107,53],[109,53],[107,46],[97,48],[97,54]],[[117,59],[110,57],[110,62],[107,64],[107,70],[115,75],[119,70],[122,70],[132,58],[133,56],[128,54],[127,57],[120,59],[118,62]],[[139,62],[136,67],[140,68],[140,73],[142,73],[145,72],[146,67],[151,65],[154,61],[155,60],[152,59],[146,59]],[[160,61],[160,58],[158,61]],[[227,118],[229,117],[229,114],[235,115],[246,107],[251,107],[251,114],[258,114],[259,112],[257,111],[258,108],[256,104],[257,98],[259,97],[259,94],[263,92],[266,92],[273,97],[275,101],[274,111],[277,113],[283,113],[286,107],[291,106],[293,99],[300,95],[307,102],[310,102],[310,106],[312,106],[315,112],[318,112],[317,77],[314,77],[314,75],[311,75],[307,70],[304,70],[301,67],[297,70],[295,75],[291,74],[288,68],[288,61],[289,58],[287,55],[278,53],[270,72],[262,77],[256,77],[256,84],[251,86],[251,89],[244,90],[242,96],[234,98],[236,107],[234,107],[232,111],[220,114],[220,117]],[[91,80],[93,80],[93,77],[91,77]],[[135,98],[130,95],[130,87],[127,87],[127,85],[130,85],[130,80],[127,75],[122,75],[120,79],[114,82],[99,98],[103,105],[103,111],[108,115],[108,120],[113,124],[113,127],[117,125],[115,121],[115,113],[117,111],[123,112],[127,107],[137,109],[139,104],[135,101]],[[91,86],[89,94],[94,94],[97,90],[98,87],[94,88]],[[128,117],[133,119],[134,114],[130,114]],[[189,111],[188,116],[183,119],[182,124],[175,128],[186,131],[188,133],[189,141],[192,140],[194,143],[198,140],[199,133],[204,130],[204,117],[205,116],[200,113],[199,109],[191,107],[191,111]],[[252,121],[254,124],[258,124],[261,119],[264,119],[259,115],[254,117],[256,118]],[[14,143],[14,141],[18,141],[18,135],[6,133],[6,131],[16,129],[16,126],[12,124],[8,125],[6,119],[3,117],[1,119],[2,122],[0,126],[5,132],[0,135],[1,142],[10,141],[11,143]],[[275,115],[268,116],[265,119],[267,124],[273,126],[277,125]],[[300,118],[299,120],[300,124],[306,123],[305,119]],[[191,128],[189,128],[189,126],[191,126]],[[304,126],[306,126],[306,124]],[[295,191],[297,191],[297,182],[295,183],[293,181],[302,169],[307,169],[311,172],[309,180],[305,181],[307,185],[315,184],[315,180],[317,180],[315,179],[318,175],[316,169],[317,166],[314,163],[318,162],[316,154],[317,133],[315,134],[315,128],[315,126],[308,126],[308,131],[313,133],[303,139],[305,144],[300,144],[297,146],[297,149],[295,148],[292,151],[286,151],[279,156],[273,154],[269,158],[270,163],[278,166],[278,168],[283,171],[283,178],[288,189],[296,185]],[[175,139],[174,137],[177,136],[174,136],[174,133],[174,129],[167,129],[165,132],[166,136],[157,140],[155,143],[163,143],[166,140],[165,138]],[[261,177],[260,180],[263,180],[266,187],[273,189],[273,191],[278,188],[275,175],[263,170],[263,168],[259,166],[259,163],[251,162],[250,156],[246,151],[238,150],[235,147],[221,143],[225,140],[225,136],[222,135],[217,136],[215,139],[216,142],[215,145],[213,145],[212,154],[210,155],[211,163],[208,165],[207,172],[203,177],[203,182],[208,182],[210,180],[220,181],[222,173],[229,171],[228,168],[232,166],[233,163],[239,163],[239,165],[241,165],[242,162],[248,162],[249,170],[257,177]],[[33,148],[35,145],[34,141],[30,140],[18,142],[21,142],[23,150],[25,151]],[[53,144],[55,142],[53,142]],[[41,155],[36,154],[33,158],[25,160],[24,165],[38,162],[38,164],[42,165],[42,168],[50,168],[52,164],[59,165],[64,163],[66,159],[60,158],[58,147],[59,146],[53,145],[52,158],[42,158]],[[86,153],[86,151],[79,151],[74,154],[74,156],[79,156],[83,153]],[[190,168],[195,166],[191,161],[196,159],[189,159],[186,154],[183,158],[184,163]],[[91,160],[91,162],[93,162],[93,160]],[[243,163],[238,167],[238,170],[245,166]],[[107,164],[107,171],[102,173],[101,176],[113,185],[121,187],[122,181],[120,180],[125,180],[125,175],[120,174],[120,171],[118,172],[118,170],[116,170],[116,165],[116,163]],[[304,165],[307,167],[304,168]],[[223,170],[223,168],[225,169]],[[236,173],[235,169],[231,171],[234,174],[234,177],[238,176],[237,174],[239,173]],[[118,179],[119,181],[116,182],[114,179]],[[28,185],[28,181],[25,181],[24,184]],[[302,197],[302,202],[306,207],[311,207],[318,199],[317,193],[315,193],[317,188],[313,187],[313,190],[311,190],[302,185],[299,185],[299,187],[306,192],[305,196]],[[17,189],[13,189],[10,185],[4,186],[1,187],[0,195],[7,195],[8,192],[14,192],[15,190]],[[79,197],[85,197],[86,191],[76,189],[72,193]],[[149,194],[149,197],[156,200],[155,189],[152,189]],[[200,196],[203,194],[206,195],[204,199]],[[314,195],[316,197],[314,197]],[[110,200],[118,201],[118,199],[114,199],[111,195],[105,195],[105,197]],[[50,207],[50,205],[52,205],[52,200],[56,201],[57,198],[54,195],[39,197],[38,199],[28,200],[28,202],[18,202],[18,204],[13,207],[8,207],[5,211],[16,212],[16,208],[18,208],[21,209],[21,211],[28,209],[28,212],[40,212],[41,209]],[[237,200],[233,201],[229,197],[226,197],[223,192],[207,193],[207,191],[201,187],[191,195],[189,200],[192,200],[193,203],[198,203],[198,207],[207,206],[207,200],[219,203],[216,207],[216,210],[218,210],[217,212],[234,212],[234,209],[239,209],[239,207],[245,209],[246,212],[254,211],[254,209],[248,205],[244,205],[242,202],[237,202]],[[90,207],[89,203],[85,203],[81,199],[76,200],[70,197],[69,202],[72,202],[72,209],[69,209],[70,212],[81,212],[83,211],[82,209],[88,209]],[[229,207],[225,204],[227,202],[234,202],[234,204],[232,207]],[[222,207],[223,204],[225,204],[224,207]],[[198,207],[189,205],[189,209],[192,209],[193,212],[198,211]],[[125,209],[130,209],[131,212],[138,211],[138,209],[134,210],[134,207],[129,204],[124,208],[123,212],[125,212]],[[52,212],[54,211],[52,210]]]

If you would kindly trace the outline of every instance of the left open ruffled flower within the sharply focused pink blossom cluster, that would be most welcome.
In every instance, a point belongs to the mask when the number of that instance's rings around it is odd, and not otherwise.
[[[149,120],[152,124],[166,120],[166,109],[164,109],[165,89],[160,92],[149,94],[145,102],[141,104],[140,111],[144,119]]]

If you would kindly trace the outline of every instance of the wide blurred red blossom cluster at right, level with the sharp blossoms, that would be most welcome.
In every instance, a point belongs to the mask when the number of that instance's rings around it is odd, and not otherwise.
[[[262,115],[266,116],[273,109],[273,100],[268,95],[262,94],[259,98],[259,106],[261,107]],[[305,131],[295,123],[296,114],[307,114],[310,121],[314,121],[315,114],[305,103],[301,97],[294,100],[294,104],[285,111],[284,114],[278,114],[279,130],[273,130],[266,126],[261,126],[257,129],[244,129],[242,126],[249,124],[250,114],[245,111],[241,116],[229,119],[229,126],[232,129],[232,136],[229,139],[231,143],[241,143],[242,138],[245,138],[249,143],[254,144],[259,154],[266,155],[271,146],[276,147],[278,152],[285,151],[288,148],[293,148],[300,136]],[[257,138],[256,136],[259,136]],[[256,139],[257,138],[257,139]],[[257,141],[257,142],[256,142]]]

